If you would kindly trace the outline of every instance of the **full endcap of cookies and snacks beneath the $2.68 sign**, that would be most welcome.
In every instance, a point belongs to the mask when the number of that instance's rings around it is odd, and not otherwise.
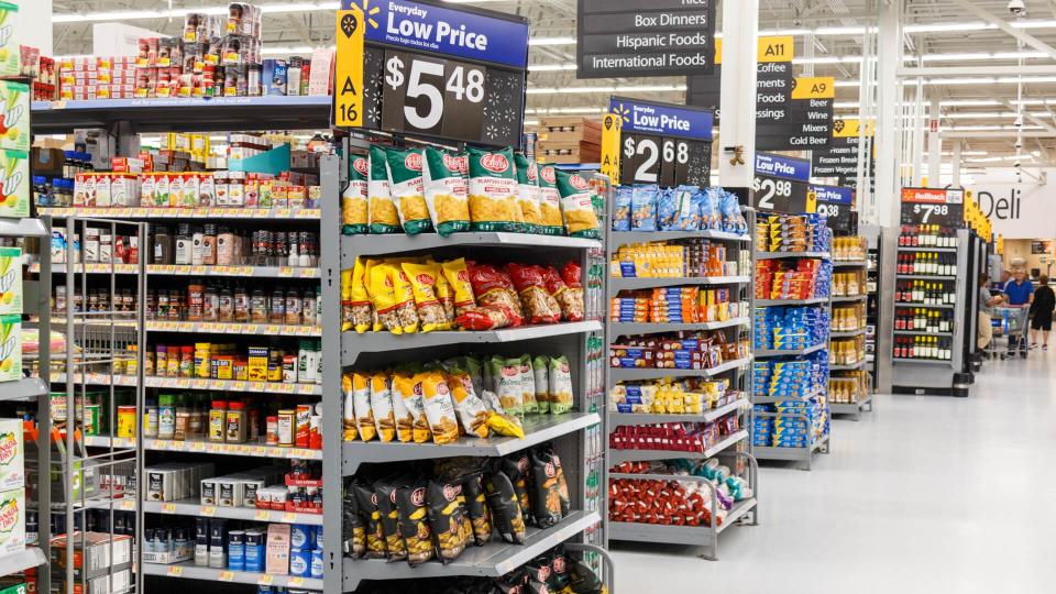
[[[691,186],[619,187],[608,220],[609,538],[696,544],[715,559],[718,535],[755,521],[757,503],[752,221],[736,196]],[[638,495],[653,490],[654,502]]]

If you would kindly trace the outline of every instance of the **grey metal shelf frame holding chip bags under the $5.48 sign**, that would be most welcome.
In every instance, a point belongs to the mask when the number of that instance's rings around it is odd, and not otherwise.
[[[348,151],[345,152],[348,154]],[[323,549],[327,593],[354,591],[364,580],[430,579],[453,575],[501,576],[525,562],[572,540],[605,543],[602,510],[606,490],[601,487],[605,466],[604,449],[597,450],[604,436],[604,364],[598,345],[602,344],[605,314],[602,307],[602,286],[588,280],[592,268],[604,270],[602,243],[575,238],[542,237],[517,233],[455,233],[448,238],[437,234],[416,237],[342,237],[340,204],[342,172],[346,170],[337,157],[323,157],[321,182],[322,208],[322,302],[323,320],[340,319],[340,274],[351,268],[358,256],[414,255],[428,252],[436,257],[448,254],[473,254],[487,248],[490,253],[509,260],[548,261],[576,260],[584,275],[586,319],[550,326],[529,326],[486,332],[428,332],[414,336],[392,336],[387,332],[356,334],[341,332],[339,324],[323,324],[324,394],[340,394],[342,372],[351,369],[373,369],[394,362],[435,359],[444,354],[461,354],[469,349],[484,352],[547,352],[569,358],[575,387],[575,408],[568,415],[525,419],[527,439],[492,438],[462,439],[447,446],[414,443],[342,442],[341,399],[323,399],[323,521],[327,526],[342,525],[342,477],[354,475],[362,464],[398,464],[409,461],[441,459],[459,455],[499,457],[543,442],[551,442],[561,455],[572,492],[573,512],[557,526],[547,529],[529,527],[524,546],[501,541],[484,547],[470,547],[457,561],[449,564],[429,562],[417,568],[405,563],[351,559],[343,557],[339,538],[327,538]],[[330,198],[332,197],[332,198]],[[606,200],[610,202],[612,200]],[[559,260],[560,258],[560,260]],[[601,487],[601,488],[600,488]],[[330,534],[340,534],[337,531]],[[592,549],[593,552],[597,552]],[[607,563],[606,563],[607,565]]]

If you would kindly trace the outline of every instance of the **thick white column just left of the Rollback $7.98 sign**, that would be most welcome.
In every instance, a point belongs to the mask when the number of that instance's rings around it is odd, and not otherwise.
[[[902,63],[901,0],[877,2],[879,46],[877,55],[877,195],[876,220],[881,227],[891,227],[899,212],[899,146],[898,94],[901,91],[897,68]],[[725,70],[725,68],[724,68]]]

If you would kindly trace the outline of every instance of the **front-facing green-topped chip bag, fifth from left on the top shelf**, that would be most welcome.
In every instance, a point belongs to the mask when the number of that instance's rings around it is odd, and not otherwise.
[[[470,228],[473,231],[520,231],[517,175],[510,148],[469,150]]]

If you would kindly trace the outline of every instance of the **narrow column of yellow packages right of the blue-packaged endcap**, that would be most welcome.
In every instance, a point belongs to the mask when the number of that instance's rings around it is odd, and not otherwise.
[[[866,371],[868,241],[864,237],[833,239],[833,326],[828,382],[834,415],[853,415],[857,420],[866,405],[872,407],[871,378]]]

